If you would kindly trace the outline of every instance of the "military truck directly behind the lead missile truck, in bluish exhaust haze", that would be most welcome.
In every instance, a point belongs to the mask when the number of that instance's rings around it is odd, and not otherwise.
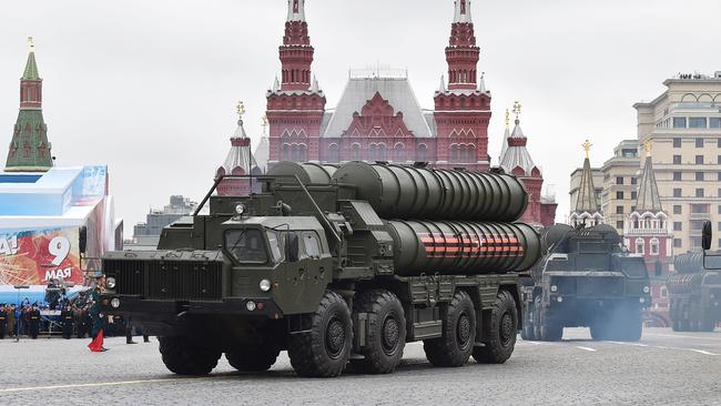
[[[608,225],[557,224],[540,232],[542,257],[521,280],[524,339],[560,341],[563,327],[590,327],[593,339],[641,338],[651,303],[643,258]]]

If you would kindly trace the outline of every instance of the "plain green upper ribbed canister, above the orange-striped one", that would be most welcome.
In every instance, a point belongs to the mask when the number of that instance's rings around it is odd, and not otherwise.
[[[333,180],[356,187],[382,219],[451,219],[512,222],[528,193],[511,175],[352,162]]]

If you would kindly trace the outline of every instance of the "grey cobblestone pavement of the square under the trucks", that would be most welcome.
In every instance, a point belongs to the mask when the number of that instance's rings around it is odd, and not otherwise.
[[[91,354],[88,339],[0,341],[0,405],[720,405],[721,332],[644,331],[640,343],[590,341],[567,328],[561,343],[519,341],[505,365],[435,368],[422,344],[406,347],[393,375],[299,378],[285,354],[264,374],[221,358],[209,377],[183,378],[161,362],[158,342]]]

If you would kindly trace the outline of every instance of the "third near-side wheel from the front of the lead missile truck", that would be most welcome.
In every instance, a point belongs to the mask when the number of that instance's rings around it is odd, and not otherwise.
[[[448,304],[443,321],[443,336],[424,339],[426,358],[434,366],[461,366],[474,351],[476,341],[476,311],[466,292],[458,291]]]

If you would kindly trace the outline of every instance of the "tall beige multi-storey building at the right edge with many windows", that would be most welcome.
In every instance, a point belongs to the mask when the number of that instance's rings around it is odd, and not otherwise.
[[[673,252],[701,248],[704,220],[721,231],[721,72],[680,74],[650,103],[637,103],[638,139],[651,141]],[[719,246],[719,240],[712,245]]]

